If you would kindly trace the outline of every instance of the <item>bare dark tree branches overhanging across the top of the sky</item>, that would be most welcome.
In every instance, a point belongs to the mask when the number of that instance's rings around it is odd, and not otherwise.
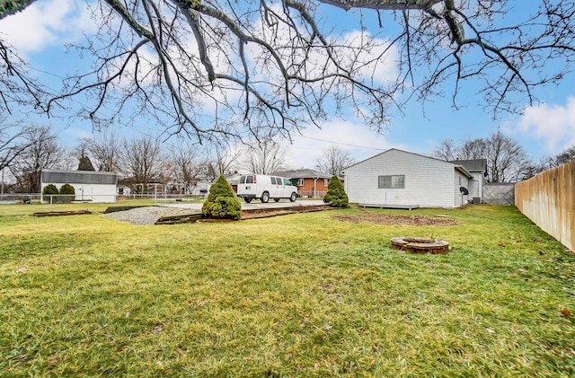
[[[9,2],[0,19],[31,1]],[[465,85],[494,118],[537,101],[575,64],[575,4],[541,0],[517,23],[496,0],[100,0],[102,28],[84,46],[93,68],[70,74],[47,102],[50,115],[75,107],[94,127],[155,119],[168,135],[256,138],[299,131],[333,115],[355,114],[383,130],[406,101],[450,91],[455,108]],[[335,35],[326,6],[376,12],[394,22],[385,38],[361,30]],[[99,13],[98,13],[99,12]],[[383,16],[383,18],[382,18]],[[327,22],[326,22],[327,21]],[[386,28],[386,31],[387,32]],[[0,107],[46,93],[0,41]],[[18,64],[15,64],[18,63]],[[394,76],[380,78],[387,65]],[[6,79],[8,77],[9,79]]]

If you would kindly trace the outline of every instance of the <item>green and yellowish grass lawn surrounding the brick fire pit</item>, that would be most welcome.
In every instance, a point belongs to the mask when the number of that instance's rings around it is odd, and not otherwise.
[[[0,207],[0,376],[575,375],[575,256],[514,207],[373,210],[458,222],[419,227],[40,208]],[[407,235],[452,250],[389,247]]]

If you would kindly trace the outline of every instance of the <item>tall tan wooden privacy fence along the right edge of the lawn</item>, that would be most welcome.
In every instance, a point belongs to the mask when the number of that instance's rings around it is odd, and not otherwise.
[[[575,161],[518,182],[515,203],[545,233],[575,251]]]

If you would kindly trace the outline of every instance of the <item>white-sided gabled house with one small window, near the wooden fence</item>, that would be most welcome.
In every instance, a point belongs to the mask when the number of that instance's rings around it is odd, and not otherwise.
[[[479,188],[463,164],[392,148],[344,171],[349,202],[376,207],[459,207]],[[482,197],[482,193],[478,194]]]

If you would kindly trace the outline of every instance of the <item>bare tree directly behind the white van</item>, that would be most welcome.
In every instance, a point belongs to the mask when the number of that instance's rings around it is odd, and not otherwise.
[[[250,173],[270,174],[288,168],[288,150],[271,140],[243,148],[240,165]]]

